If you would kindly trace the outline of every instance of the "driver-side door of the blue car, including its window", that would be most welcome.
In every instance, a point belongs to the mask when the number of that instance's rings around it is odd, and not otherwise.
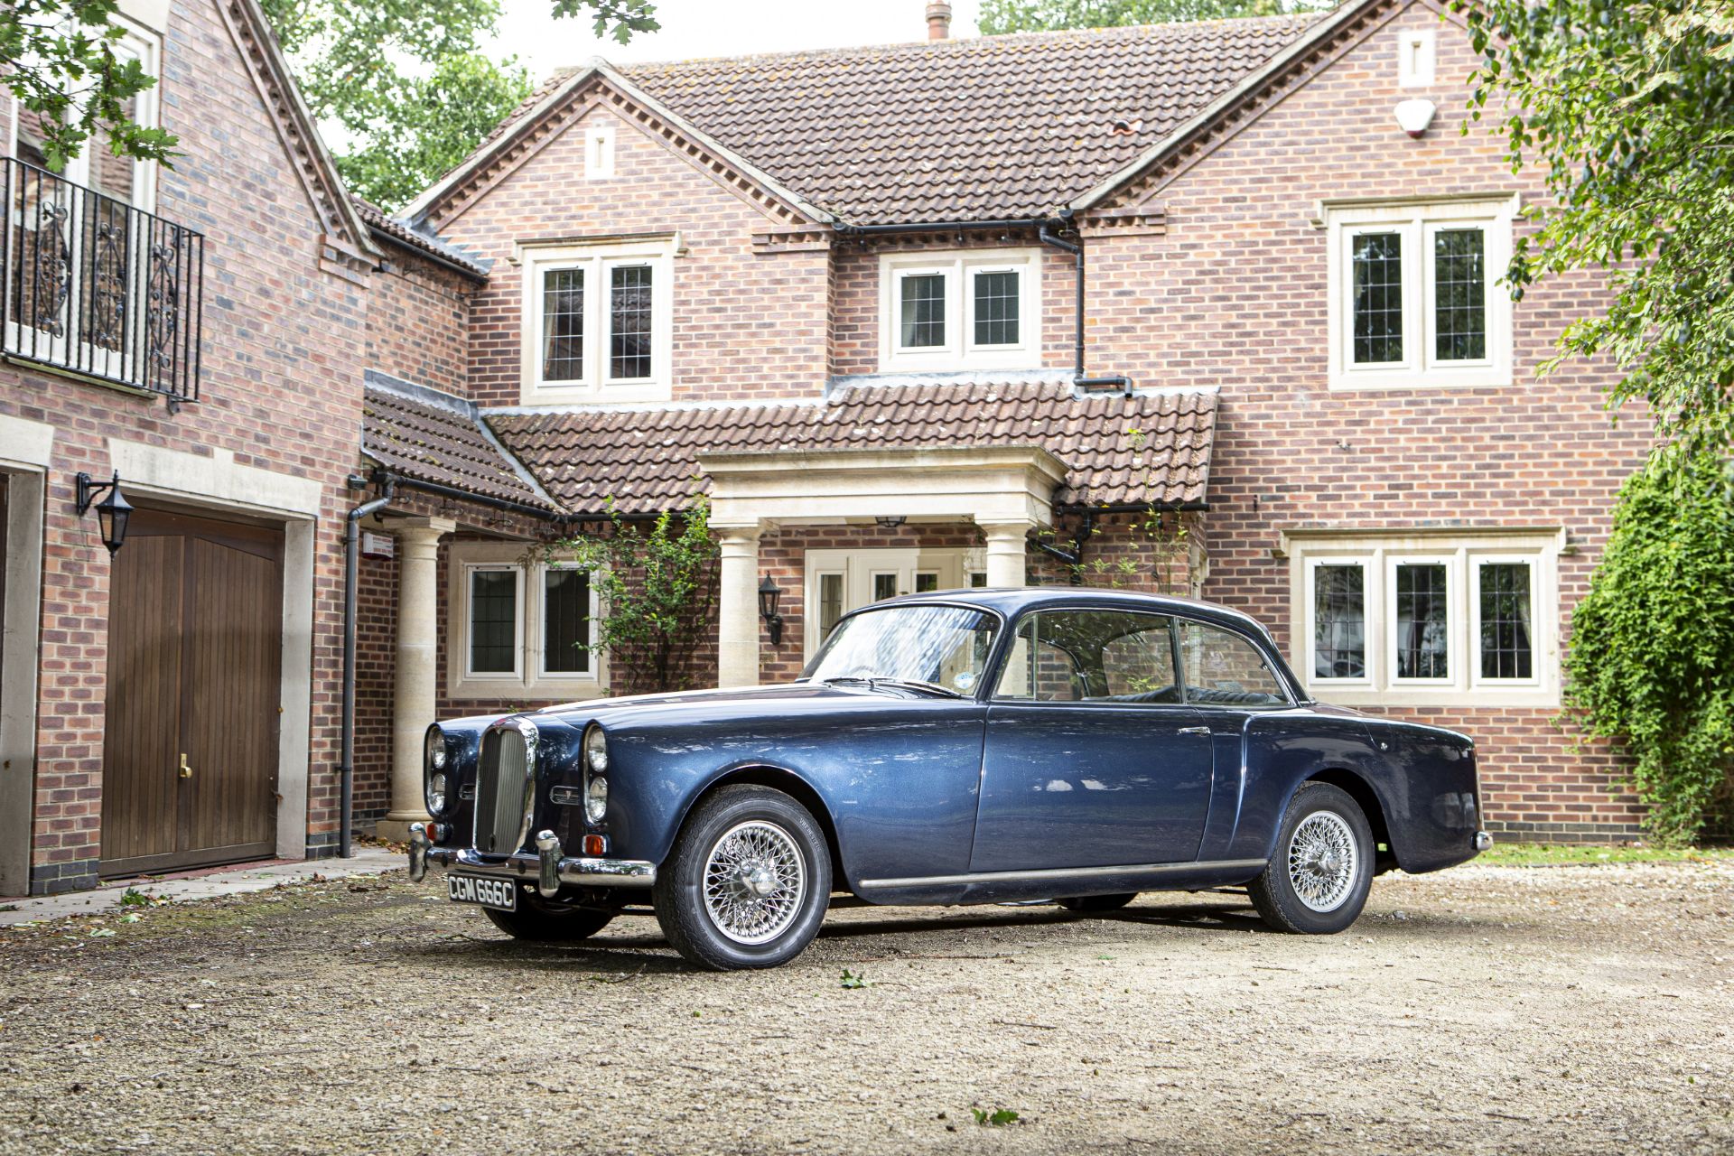
[[[1210,733],[1181,702],[1174,657],[1167,615],[1020,622],[988,704],[971,872],[1196,858]]]

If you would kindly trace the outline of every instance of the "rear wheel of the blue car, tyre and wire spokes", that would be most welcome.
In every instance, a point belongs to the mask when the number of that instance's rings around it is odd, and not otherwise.
[[[1366,906],[1373,886],[1373,832],[1340,787],[1306,782],[1288,799],[1276,854],[1248,884],[1252,906],[1276,931],[1333,936]]]

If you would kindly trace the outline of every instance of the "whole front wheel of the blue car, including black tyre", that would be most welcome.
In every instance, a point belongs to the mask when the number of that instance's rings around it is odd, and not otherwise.
[[[799,955],[831,905],[831,844],[799,802],[723,787],[694,808],[652,893],[662,934],[707,971],[777,967]]]

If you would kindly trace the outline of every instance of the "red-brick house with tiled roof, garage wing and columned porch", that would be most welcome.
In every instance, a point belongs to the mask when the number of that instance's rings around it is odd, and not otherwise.
[[[434,718],[635,686],[581,645],[588,575],[529,548],[701,487],[702,681],[1070,558],[1257,614],[1323,698],[1470,730],[1495,832],[1637,830],[1554,716],[1646,425],[1606,367],[1533,378],[1597,288],[1493,284],[1538,189],[1458,133],[1437,5],[595,61],[397,218],[343,191],[253,0],[123,10],[173,172],[43,185],[5,107],[0,894],[329,854],[345,783],[401,835]],[[113,558],[80,471],[139,508]]]

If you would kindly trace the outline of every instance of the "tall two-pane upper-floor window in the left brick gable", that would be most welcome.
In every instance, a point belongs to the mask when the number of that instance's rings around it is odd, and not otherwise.
[[[524,404],[666,400],[675,241],[522,250]]]

